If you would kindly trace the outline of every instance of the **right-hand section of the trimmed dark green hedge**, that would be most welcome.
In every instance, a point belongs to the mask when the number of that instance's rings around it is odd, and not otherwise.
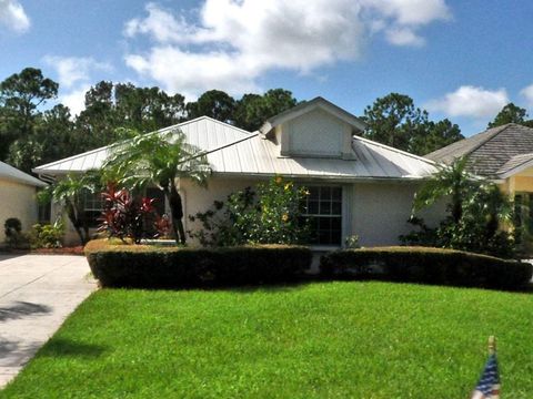
[[[533,266],[462,250],[375,247],[323,255],[326,278],[381,278],[392,282],[516,289],[530,283]]]

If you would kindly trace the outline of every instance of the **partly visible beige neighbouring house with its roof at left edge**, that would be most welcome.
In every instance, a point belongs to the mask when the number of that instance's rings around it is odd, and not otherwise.
[[[40,180],[0,162],[0,244],[6,239],[6,219],[17,217],[24,231],[38,222],[36,194],[44,186]]]

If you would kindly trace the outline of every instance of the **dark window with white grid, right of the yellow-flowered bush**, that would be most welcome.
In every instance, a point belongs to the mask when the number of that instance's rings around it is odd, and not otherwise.
[[[342,187],[309,186],[305,213],[311,227],[310,244],[341,245]]]

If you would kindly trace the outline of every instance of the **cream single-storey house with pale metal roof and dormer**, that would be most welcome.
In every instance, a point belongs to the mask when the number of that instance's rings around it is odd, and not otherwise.
[[[214,200],[253,186],[276,174],[309,187],[309,217],[315,247],[339,247],[358,234],[362,245],[396,244],[409,233],[413,194],[435,172],[433,162],[362,139],[365,125],[322,98],[296,105],[247,132],[210,117],[175,126],[189,143],[205,151],[213,170],[208,188],[180,182],[185,215],[204,212]],[[98,168],[109,147],[89,151],[34,168],[46,178]],[[162,198],[152,188],[148,195]],[[86,211],[98,215],[98,196],[88,196]],[[442,213],[433,212],[430,224]],[[198,227],[184,217],[185,229]]]

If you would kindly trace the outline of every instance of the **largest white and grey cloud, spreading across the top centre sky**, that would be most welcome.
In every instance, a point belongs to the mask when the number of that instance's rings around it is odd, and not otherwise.
[[[198,22],[155,3],[124,25],[147,35],[148,52],[125,62],[169,91],[242,93],[271,70],[310,73],[361,58],[372,35],[394,45],[422,45],[418,30],[450,18],[444,0],[204,0]],[[414,16],[411,14],[414,12]]]

